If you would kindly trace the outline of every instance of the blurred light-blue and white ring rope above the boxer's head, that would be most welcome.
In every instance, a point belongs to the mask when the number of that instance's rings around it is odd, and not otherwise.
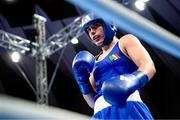
[[[180,58],[180,38],[112,0],[68,0]]]

